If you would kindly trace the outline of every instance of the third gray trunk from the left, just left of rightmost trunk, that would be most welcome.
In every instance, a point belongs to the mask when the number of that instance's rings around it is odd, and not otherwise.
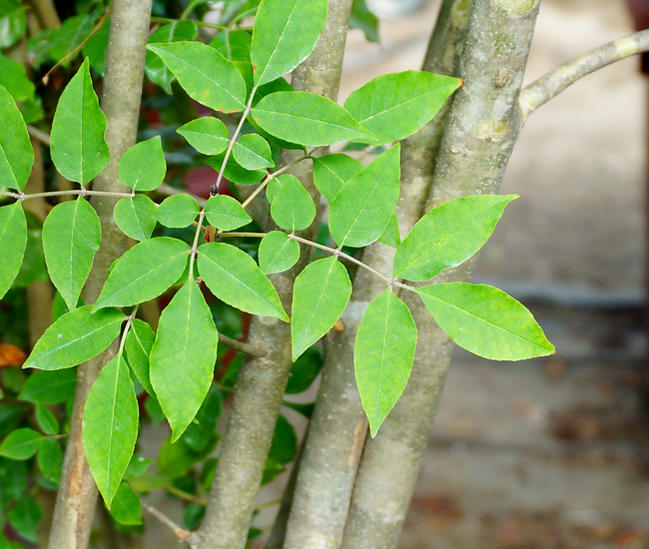
[[[461,51],[468,19],[467,0],[443,3],[432,35],[424,69],[452,74]],[[421,215],[422,202],[430,185],[433,167],[431,150],[439,145],[445,112],[402,146],[402,186],[398,208],[401,230],[406,233]],[[363,253],[363,262],[389,276],[394,249],[373,244]],[[326,362],[316,408],[309,427],[304,456],[288,524],[285,547],[339,547],[358,463],[367,433],[354,380],[353,348],[356,331],[367,305],[385,283],[359,270],[354,292],[342,316],[344,331],[330,333]]]

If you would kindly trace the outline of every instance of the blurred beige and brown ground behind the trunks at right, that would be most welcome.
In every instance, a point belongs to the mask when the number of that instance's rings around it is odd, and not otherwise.
[[[341,99],[419,68],[438,7],[382,19],[380,46],[353,31]],[[543,0],[526,80],[632,30],[625,0]],[[522,133],[501,189],[521,198],[475,280],[528,305],[557,354],[506,364],[455,352],[402,549],[649,547],[639,67],[585,78]]]

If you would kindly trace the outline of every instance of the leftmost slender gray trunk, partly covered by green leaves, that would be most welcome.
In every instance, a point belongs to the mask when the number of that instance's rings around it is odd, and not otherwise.
[[[96,190],[128,190],[120,183],[117,168],[122,154],[136,139],[150,16],[151,0],[113,2],[101,101],[108,121],[106,142],[110,162],[95,179],[93,187]],[[92,200],[101,220],[102,243],[84,288],[86,303],[96,300],[110,264],[126,249],[126,238],[113,221],[115,200],[110,197],[94,197]],[[81,419],[90,387],[114,352],[115,349],[111,348],[79,366],[70,434],[50,533],[50,549],[83,549],[88,546],[97,488],[83,450]]]

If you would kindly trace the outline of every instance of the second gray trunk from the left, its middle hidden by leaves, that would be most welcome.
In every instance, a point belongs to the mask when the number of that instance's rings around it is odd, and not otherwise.
[[[318,44],[293,72],[292,84],[297,90],[337,97],[350,10],[351,0],[330,0],[327,23]],[[294,153],[288,151],[282,161],[286,164],[293,159]],[[313,185],[310,165],[298,164],[291,173],[300,178],[317,204],[319,195]],[[305,236],[312,237],[316,227],[314,223]],[[308,253],[303,250],[297,267],[271,278],[287,310],[293,282],[307,260]],[[253,319],[249,342],[265,352],[246,361],[239,374],[209,504],[196,536],[199,548],[245,546],[292,363],[290,341],[288,324],[267,317]]]

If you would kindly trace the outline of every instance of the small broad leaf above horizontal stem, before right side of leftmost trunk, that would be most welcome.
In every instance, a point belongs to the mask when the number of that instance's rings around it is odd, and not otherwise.
[[[159,135],[133,145],[119,161],[119,178],[134,191],[154,191],[166,174],[167,161]]]

